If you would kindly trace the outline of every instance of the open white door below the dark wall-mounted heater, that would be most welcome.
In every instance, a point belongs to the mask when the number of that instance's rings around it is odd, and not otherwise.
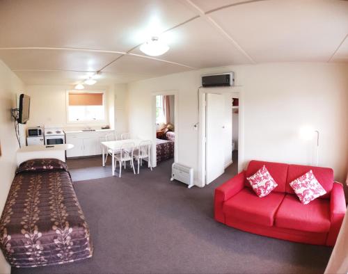
[[[225,171],[225,100],[223,95],[207,93],[205,116],[206,136],[206,184],[214,181]]]

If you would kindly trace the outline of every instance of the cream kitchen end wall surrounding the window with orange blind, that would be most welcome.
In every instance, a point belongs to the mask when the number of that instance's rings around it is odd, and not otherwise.
[[[27,86],[26,93],[31,97],[30,120],[28,127],[43,126],[44,124],[61,125],[63,127],[100,126],[113,122],[113,89],[107,86],[93,86],[89,90],[106,91],[106,121],[102,123],[74,124],[67,122],[66,90],[73,86]],[[109,114],[111,118],[109,117]],[[111,124],[113,127],[113,124]]]

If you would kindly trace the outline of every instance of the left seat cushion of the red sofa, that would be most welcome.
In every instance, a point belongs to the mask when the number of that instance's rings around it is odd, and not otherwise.
[[[223,213],[238,220],[271,227],[274,224],[274,214],[284,196],[284,193],[272,192],[259,198],[251,188],[243,188],[223,203]]]

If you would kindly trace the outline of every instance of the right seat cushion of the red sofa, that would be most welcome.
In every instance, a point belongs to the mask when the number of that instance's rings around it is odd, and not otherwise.
[[[317,198],[302,204],[296,195],[285,195],[276,213],[276,227],[308,232],[329,232],[330,201]]]

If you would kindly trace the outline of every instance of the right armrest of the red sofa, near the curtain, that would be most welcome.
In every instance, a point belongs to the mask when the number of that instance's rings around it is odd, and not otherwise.
[[[346,211],[347,207],[345,202],[345,192],[343,191],[343,186],[338,182],[334,182],[330,198],[331,227],[326,240],[326,245],[335,245],[338,232],[340,232],[340,227],[342,225],[342,221],[345,217]]]

